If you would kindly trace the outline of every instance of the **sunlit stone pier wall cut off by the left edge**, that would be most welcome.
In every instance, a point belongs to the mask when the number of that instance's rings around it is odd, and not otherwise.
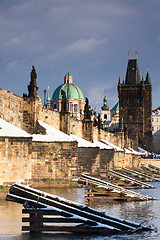
[[[0,185],[31,181],[31,147],[31,138],[0,137]]]

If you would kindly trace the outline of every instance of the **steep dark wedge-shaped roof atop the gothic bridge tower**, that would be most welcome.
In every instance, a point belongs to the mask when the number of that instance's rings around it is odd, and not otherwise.
[[[140,80],[137,59],[129,59],[128,66],[127,66],[127,72],[126,72],[125,84],[126,85],[136,85],[136,84],[140,84],[140,83],[141,83],[141,80]]]

